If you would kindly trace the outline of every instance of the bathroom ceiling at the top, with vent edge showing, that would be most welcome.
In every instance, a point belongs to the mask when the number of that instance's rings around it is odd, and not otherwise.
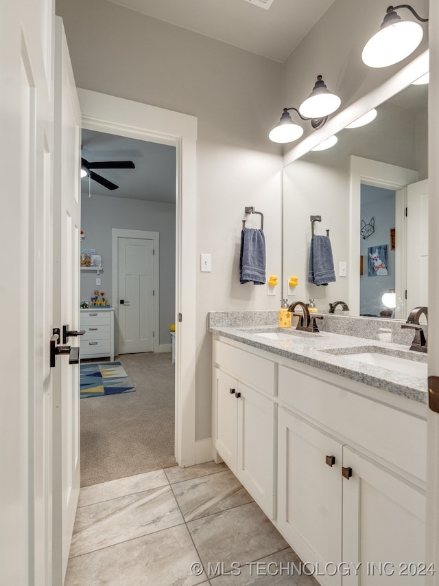
[[[283,63],[334,0],[109,0]]]

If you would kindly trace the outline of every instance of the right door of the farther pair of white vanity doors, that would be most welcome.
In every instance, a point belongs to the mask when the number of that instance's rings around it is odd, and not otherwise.
[[[237,477],[270,519],[276,517],[276,406],[243,383],[237,393]]]

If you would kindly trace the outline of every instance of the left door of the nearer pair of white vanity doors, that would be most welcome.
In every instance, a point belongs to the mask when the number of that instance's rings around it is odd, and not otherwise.
[[[342,444],[278,409],[278,526],[300,559],[342,561]],[[340,573],[319,576],[340,585]]]

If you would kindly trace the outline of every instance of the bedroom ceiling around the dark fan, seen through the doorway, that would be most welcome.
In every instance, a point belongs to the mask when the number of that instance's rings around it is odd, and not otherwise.
[[[96,169],[119,188],[108,190],[88,177],[81,179],[81,193],[175,203],[176,148],[107,133],[82,130],[82,158],[95,161],[132,161],[135,169]]]

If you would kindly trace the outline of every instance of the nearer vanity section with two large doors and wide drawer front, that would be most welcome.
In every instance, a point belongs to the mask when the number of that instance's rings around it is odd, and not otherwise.
[[[405,399],[395,409],[343,383],[279,365],[278,528],[303,561],[351,563],[346,575],[323,572],[322,584],[420,585],[425,420]]]

